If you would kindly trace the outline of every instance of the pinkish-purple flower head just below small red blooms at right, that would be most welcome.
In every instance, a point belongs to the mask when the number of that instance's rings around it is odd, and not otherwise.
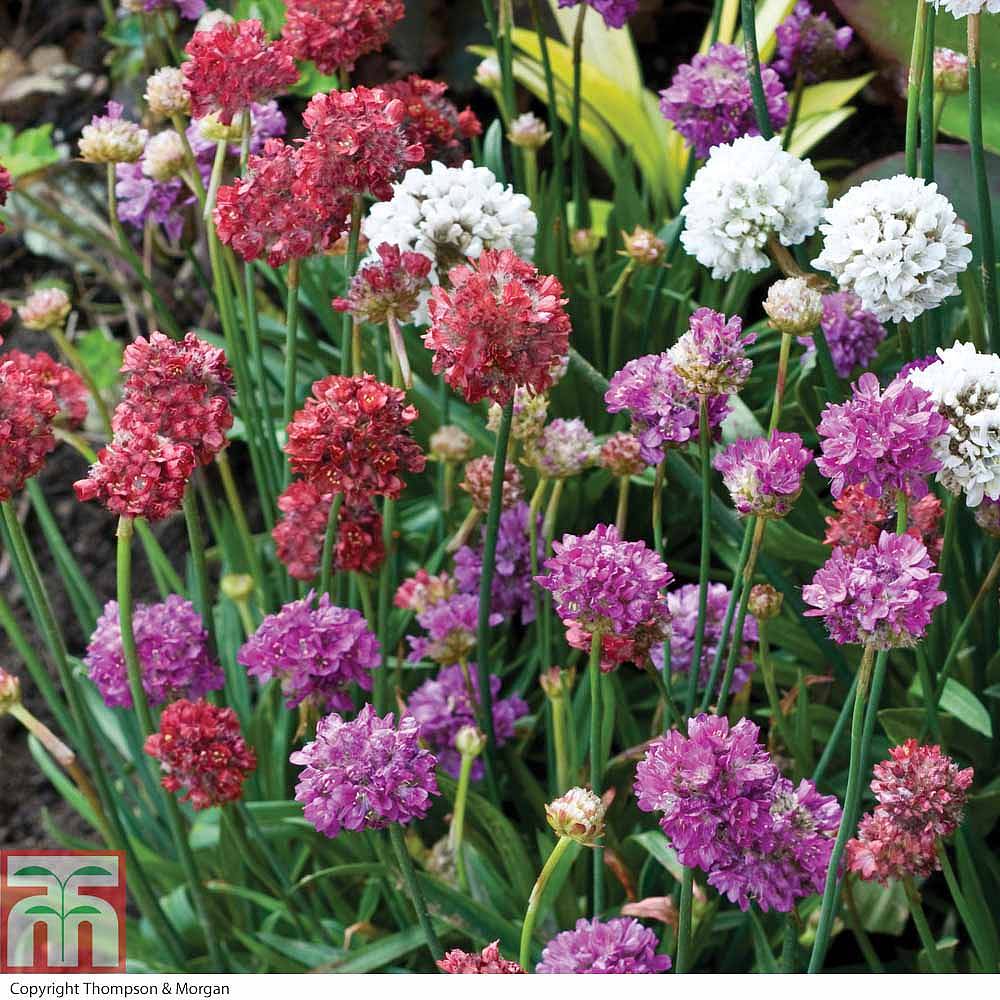
[[[919,539],[883,531],[878,544],[850,555],[833,550],[802,588],[803,600],[812,605],[805,614],[825,619],[830,637],[840,644],[912,646],[945,601],[941,574],[933,568]]]

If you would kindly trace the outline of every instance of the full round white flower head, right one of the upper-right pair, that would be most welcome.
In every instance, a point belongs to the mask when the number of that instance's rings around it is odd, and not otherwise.
[[[958,291],[972,237],[936,184],[899,174],[865,181],[838,198],[820,226],[813,261],[885,323],[916,319]]]

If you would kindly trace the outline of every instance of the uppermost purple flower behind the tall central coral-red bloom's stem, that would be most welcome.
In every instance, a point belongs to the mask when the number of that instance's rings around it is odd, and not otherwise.
[[[531,595],[531,543],[528,538],[530,508],[520,500],[500,515],[497,535],[496,571],[493,574],[491,610],[507,621],[520,617],[521,624],[535,620],[535,602]],[[545,543],[542,539],[542,518],[536,520],[535,542],[537,557],[542,559]],[[463,545],[455,553],[455,579],[463,594],[479,594],[483,570],[482,541],[472,548]]]

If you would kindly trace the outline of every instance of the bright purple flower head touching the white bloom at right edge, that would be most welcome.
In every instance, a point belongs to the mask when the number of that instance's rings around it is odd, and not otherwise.
[[[904,490],[914,500],[927,494],[926,477],[941,463],[931,443],[948,429],[930,393],[905,379],[879,391],[878,377],[865,372],[846,403],[830,403],[819,423],[823,454],[816,467],[829,477],[830,492],[863,483],[869,496]]]

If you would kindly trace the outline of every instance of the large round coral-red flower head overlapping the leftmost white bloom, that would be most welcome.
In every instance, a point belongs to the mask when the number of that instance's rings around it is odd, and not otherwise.
[[[470,403],[489,398],[503,406],[518,386],[548,389],[569,350],[559,280],[539,275],[513,250],[484,250],[448,277],[450,289],[433,290],[424,334],[434,372]]]

